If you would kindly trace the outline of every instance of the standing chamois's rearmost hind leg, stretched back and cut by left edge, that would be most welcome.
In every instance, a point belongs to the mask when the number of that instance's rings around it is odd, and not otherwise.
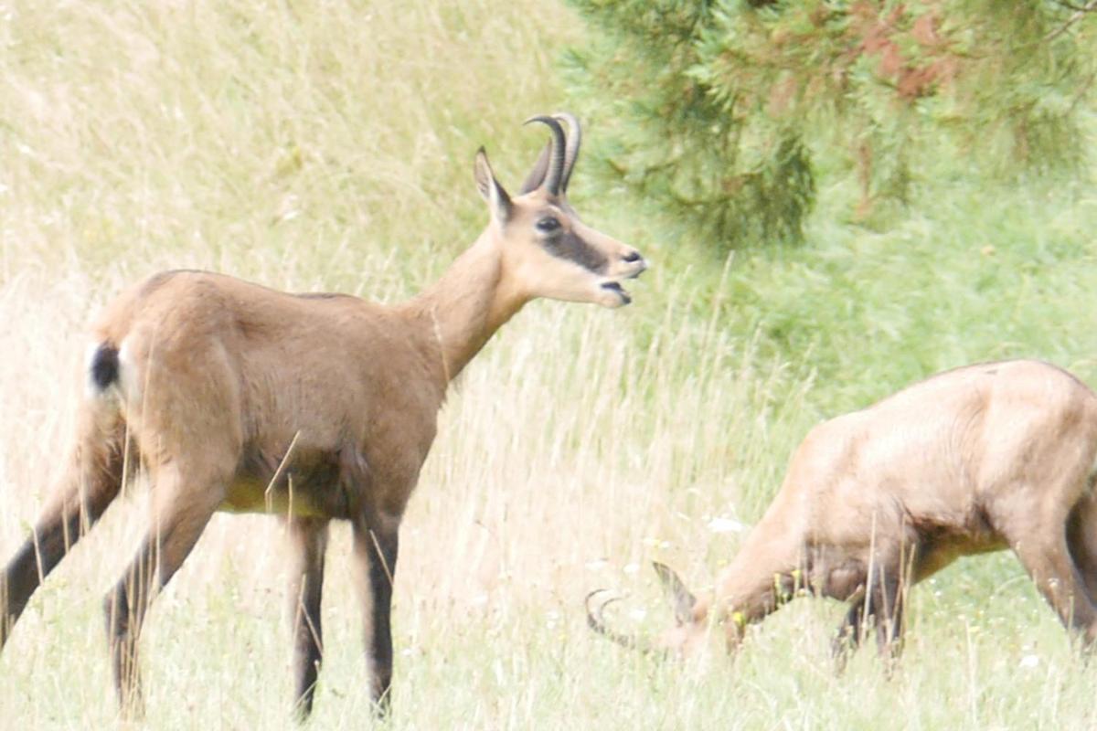
[[[125,427],[116,414],[81,411],[77,438],[33,532],[0,575],[0,648],[31,595],[117,496]],[[105,407],[102,407],[105,408]]]

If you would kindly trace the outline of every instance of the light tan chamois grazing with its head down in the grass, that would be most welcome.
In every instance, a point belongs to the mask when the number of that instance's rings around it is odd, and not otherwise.
[[[608,628],[609,601],[587,597],[590,627],[647,651],[688,655],[708,624],[728,651],[745,627],[798,592],[849,603],[840,664],[873,620],[881,653],[901,650],[907,585],[960,556],[1011,548],[1085,644],[1097,637],[1097,395],[1033,361],[938,374],[814,427],[738,555],[697,599],[655,564],[675,626],[654,640]]]

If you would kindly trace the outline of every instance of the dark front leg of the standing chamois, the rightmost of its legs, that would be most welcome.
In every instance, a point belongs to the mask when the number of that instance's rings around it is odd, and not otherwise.
[[[354,560],[365,617],[365,655],[370,697],[388,711],[393,679],[393,635],[389,613],[399,538],[399,517],[370,515],[354,523]]]

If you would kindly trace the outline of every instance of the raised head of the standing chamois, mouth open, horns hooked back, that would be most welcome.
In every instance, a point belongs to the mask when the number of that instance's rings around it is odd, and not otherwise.
[[[561,121],[570,127],[570,139]],[[535,116],[552,140],[521,193],[511,198],[496,180],[484,149],[476,153],[476,186],[491,212],[488,228],[499,247],[504,276],[522,297],[548,297],[603,307],[631,300],[621,283],[640,276],[647,262],[638,251],[586,226],[567,202],[567,184],[581,130],[570,114]]]

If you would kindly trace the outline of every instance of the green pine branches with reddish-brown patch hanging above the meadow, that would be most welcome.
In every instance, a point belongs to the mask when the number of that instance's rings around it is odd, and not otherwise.
[[[952,157],[1000,179],[1078,169],[1095,25],[1058,2],[572,0],[572,81],[612,119],[609,174],[721,248],[796,240],[821,175],[855,217]]]

